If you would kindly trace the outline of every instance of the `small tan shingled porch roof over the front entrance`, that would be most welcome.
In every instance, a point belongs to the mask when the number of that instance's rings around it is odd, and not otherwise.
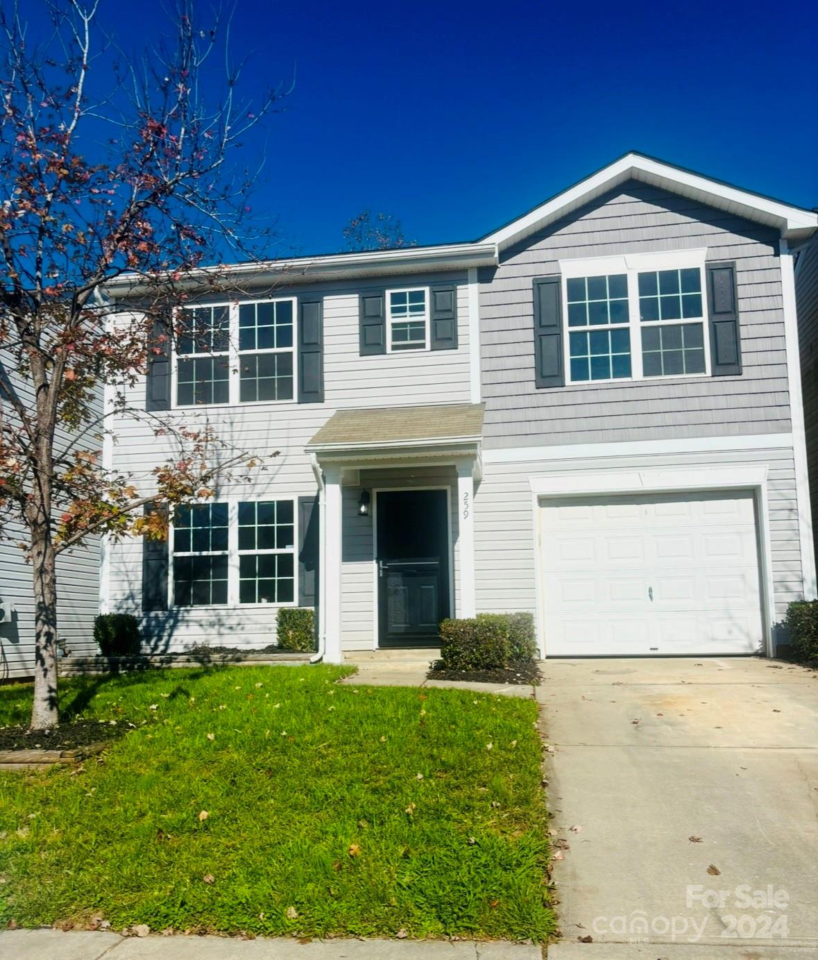
[[[483,404],[338,410],[306,445],[322,463],[480,455]]]

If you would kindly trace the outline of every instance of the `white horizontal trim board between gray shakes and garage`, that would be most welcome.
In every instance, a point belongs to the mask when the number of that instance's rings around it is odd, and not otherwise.
[[[738,437],[689,437],[682,440],[634,440],[613,444],[507,446],[484,449],[484,464],[524,464],[542,460],[589,460],[599,457],[655,456],[663,453],[729,453],[734,450],[791,449],[791,433],[748,434]]]

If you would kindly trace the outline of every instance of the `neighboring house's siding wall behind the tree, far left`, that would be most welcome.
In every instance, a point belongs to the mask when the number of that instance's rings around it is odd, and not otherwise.
[[[0,358],[2,364],[2,358]],[[10,363],[7,361],[6,371]],[[18,395],[31,405],[31,392],[9,373]],[[0,398],[2,415],[13,420],[8,401]],[[56,447],[64,448],[70,436],[58,429]],[[32,677],[35,672],[35,602],[32,566],[18,543],[27,543],[23,525],[0,518],[0,600],[11,603],[12,620],[0,623],[0,680]],[[57,563],[58,630],[68,650],[76,656],[93,654],[94,616],[99,612],[99,539],[60,554]]]

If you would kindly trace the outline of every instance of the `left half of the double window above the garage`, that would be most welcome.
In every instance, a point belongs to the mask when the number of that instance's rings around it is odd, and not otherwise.
[[[625,274],[571,277],[566,289],[571,380],[630,376],[628,277]]]

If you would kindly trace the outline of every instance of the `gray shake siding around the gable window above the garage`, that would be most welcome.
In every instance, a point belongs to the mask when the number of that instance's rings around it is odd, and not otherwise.
[[[787,432],[777,244],[774,230],[631,181],[502,252],[480,272],[486,447]],[[702,247],[736,263],[742,376],[535,389],[534,277],[570,257]]]

